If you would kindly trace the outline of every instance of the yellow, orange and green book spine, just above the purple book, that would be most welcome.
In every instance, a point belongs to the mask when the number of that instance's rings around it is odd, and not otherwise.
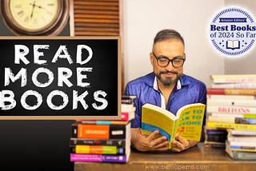
[[[72,153],[97,153],[97,154],[125,154],[124,147],[114,145],[74,145],[70,147]]]

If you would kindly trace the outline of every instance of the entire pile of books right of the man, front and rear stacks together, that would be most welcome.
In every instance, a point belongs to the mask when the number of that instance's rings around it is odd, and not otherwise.
[[[235,160],[256,159],[256,75],[211,75],[205,144],[225,148]]]

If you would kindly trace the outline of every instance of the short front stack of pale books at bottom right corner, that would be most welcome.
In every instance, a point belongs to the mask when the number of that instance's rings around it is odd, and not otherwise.
[[[226,153],[234,160],[256,160],[256,130],[227,129]]]

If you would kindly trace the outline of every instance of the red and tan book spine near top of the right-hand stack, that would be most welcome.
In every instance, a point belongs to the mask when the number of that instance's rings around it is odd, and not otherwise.
[[[226,94],[226,95],[256,95],[256,89],[222,89],[208,88],[207,94]]]

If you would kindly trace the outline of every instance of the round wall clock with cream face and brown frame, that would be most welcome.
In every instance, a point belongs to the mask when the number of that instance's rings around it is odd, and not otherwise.
[[[6,26],[17,35],[58,35],[69,18],[69,0],[2,0]]]

